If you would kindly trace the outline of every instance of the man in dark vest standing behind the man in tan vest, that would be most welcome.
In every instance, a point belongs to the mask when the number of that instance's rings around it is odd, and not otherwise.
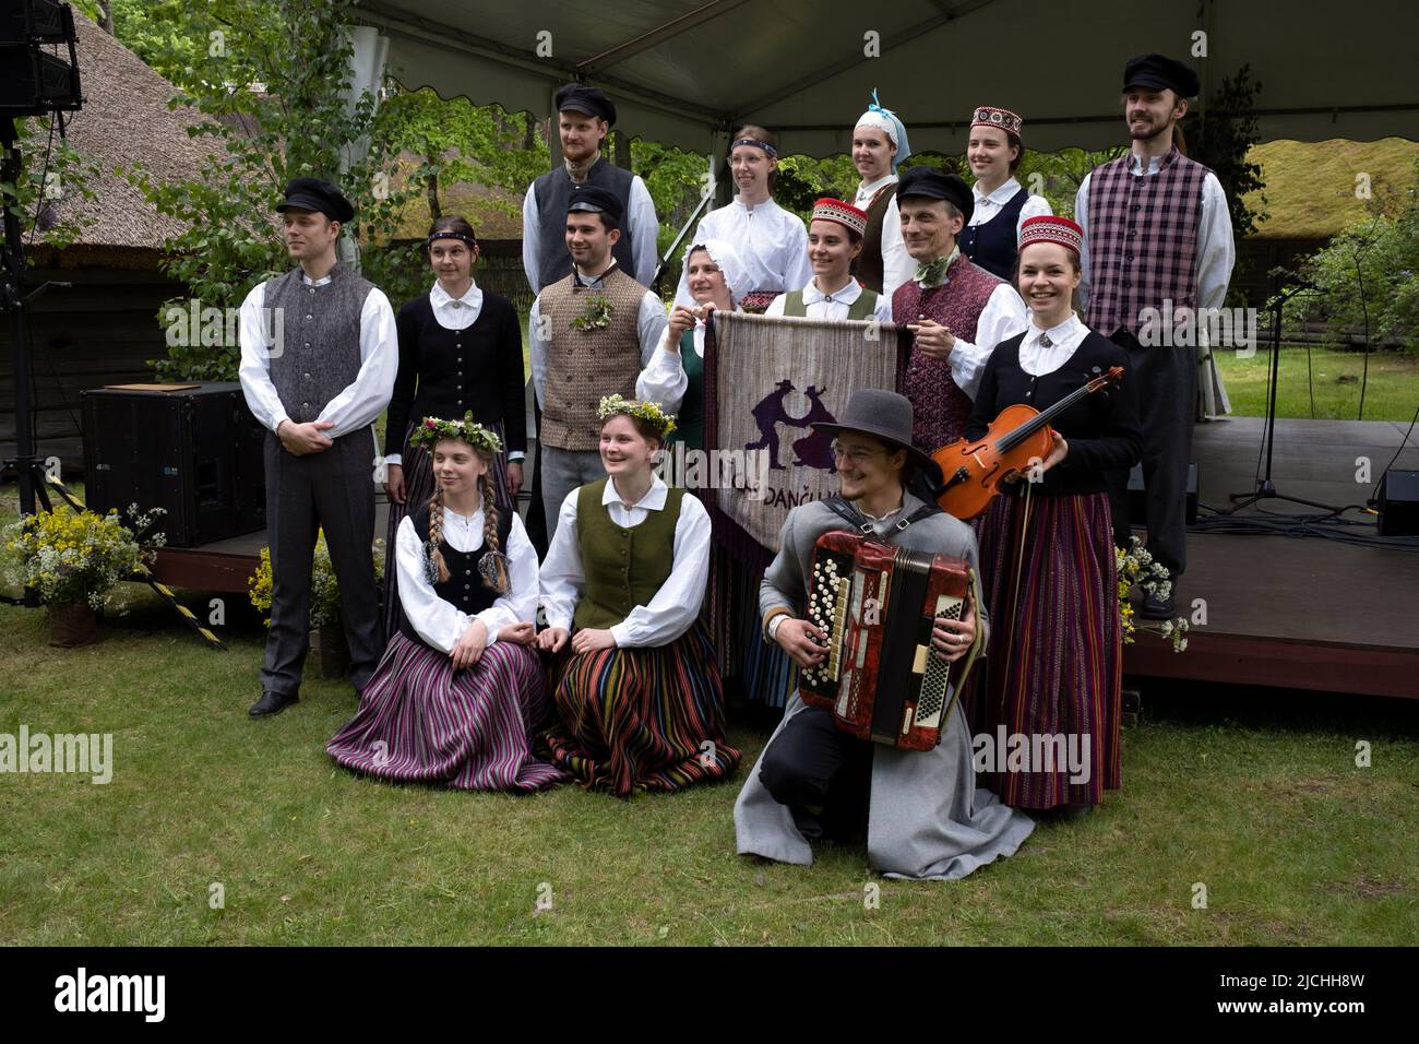
[[[646,182],[602,156],[602,141],[616,122],[616,107],[596,87],[568,84],[556,92],[563,165],[538,178],[522,200],[522,268],[534,294],[572,273],[566,250],[566,205],[576,185],[613,193],[624,216],[616,261],[641,286],[656,278],[660,220]]]

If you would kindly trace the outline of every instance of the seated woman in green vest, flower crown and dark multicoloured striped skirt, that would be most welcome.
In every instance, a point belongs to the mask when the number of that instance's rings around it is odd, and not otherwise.
[[[653,460],[674,418],[653,402],[602,399],[606,479],[572,490],[542,565],[558,665],[552,760],[587,790],[675,791],[729,776],[714,649],[698,622],[710,516],[668,489]]]

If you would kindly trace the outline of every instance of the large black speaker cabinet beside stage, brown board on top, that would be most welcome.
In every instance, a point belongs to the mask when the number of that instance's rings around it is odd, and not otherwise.
[[[84,399],[85,501],[99,513],[162,507],[155,531],[197,547],[265,528],[265,429],[241,385],[96,388]]]

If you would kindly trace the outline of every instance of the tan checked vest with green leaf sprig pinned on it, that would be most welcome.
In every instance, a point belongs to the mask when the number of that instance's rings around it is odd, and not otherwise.
[[[578,330],[572,322],[586,314],[596,297],[610,303],[610,324],[600,330]],[[636,320],[643,297],[646,287],[622,271],[620,264],[596,287],[583,287],[575,273],[543,287],[538,297],[538,311],[549,324],[543,445],[596,449],[602,440],[602,425],[596,419],[602,396],[636,398],[636,378],[640,376]]]

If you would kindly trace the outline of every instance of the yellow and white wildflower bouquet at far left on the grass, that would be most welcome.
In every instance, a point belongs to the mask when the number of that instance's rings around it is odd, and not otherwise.
[[[138,571],[143,550],[133,531],[142,533],[162,509],[139,513],[129,504],[129,526],[118,509],[108,514],[74,511],[61,504],[11,523],[4,531],[4,571],[11,582],[34,587],[45,605],[88,604],[95,611],[109,602],[121,580]],[[162,544],[158,534],[153,544]]]

